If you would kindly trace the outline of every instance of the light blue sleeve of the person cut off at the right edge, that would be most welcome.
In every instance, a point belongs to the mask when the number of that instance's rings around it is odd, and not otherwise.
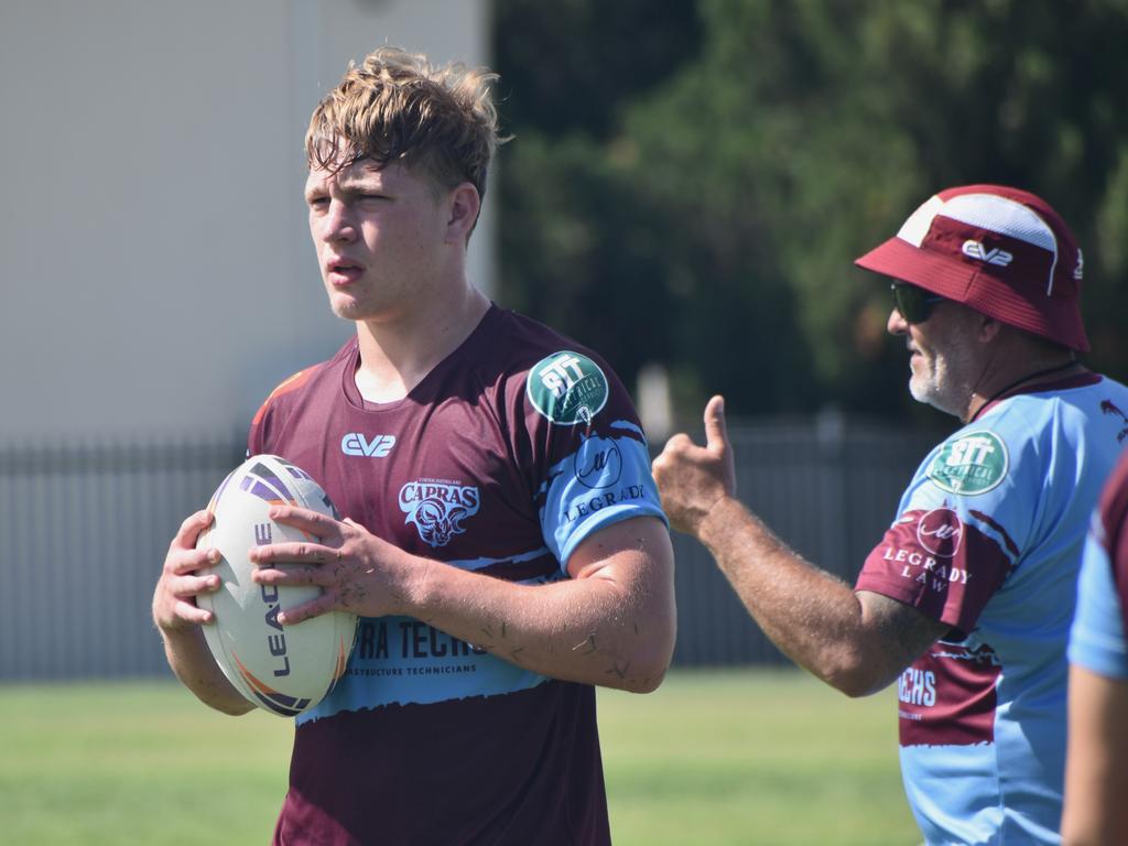
[[[1069,661],[1109,678],[1128,678],[1123,609],[1108,553],[1091,532],[1077,585],[1077,614],[1069,633]]]

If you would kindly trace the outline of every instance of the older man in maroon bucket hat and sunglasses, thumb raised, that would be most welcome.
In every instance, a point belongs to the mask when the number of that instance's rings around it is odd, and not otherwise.
[[[675,435],[654,461],[662,504],[796,663],[851,696],[898,682],[929,844],[1057,843],[1077,566],[1128,423],[1128,389],[1074,359],[1081,250],[1042,200],[972,185],[857,264],[895,280],[913,396],[963,428],[925,458],[854,589],[735,499],[721,397],[704,448]]]

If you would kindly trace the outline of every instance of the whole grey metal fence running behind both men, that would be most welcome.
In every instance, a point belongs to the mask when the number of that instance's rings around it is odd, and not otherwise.
[[[739,493],[851,581],[931,439],[837,417],[732,429]],[[0,680],[167,675],[152,588],[179,521],[241,459],[224,442],[0,449]],[[712,558],[675,536],[675,663],[785,662]]]

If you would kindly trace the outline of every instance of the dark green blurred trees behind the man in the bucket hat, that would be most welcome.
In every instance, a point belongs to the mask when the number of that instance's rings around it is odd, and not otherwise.
[[[952,185],[1046,197],[1128,377],[1128,0],[495,0],[500,299],[676,407],[935,413],[853,259]],[[693,420],[688,421],[689,423]]]

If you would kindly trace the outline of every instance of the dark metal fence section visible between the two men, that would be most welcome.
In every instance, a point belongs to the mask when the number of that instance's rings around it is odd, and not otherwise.
[[[837,415],[730,426],[737,493],[808,561],[853,584],[895,517],[935,432]],[[712,556],[675,534],[678,666],[790,663],[760,632]]]

